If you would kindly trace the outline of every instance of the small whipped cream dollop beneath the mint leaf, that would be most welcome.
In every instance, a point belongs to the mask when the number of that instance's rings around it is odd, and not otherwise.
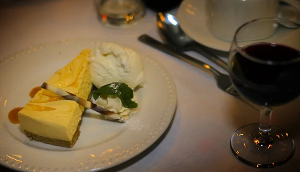
[[[118,120],[120,122],[126,122],[129,115],[134,114],[137,108],[124,107],[121,100],[116,95],[100,95],[96,100],[91,96],[93,103],[101,106],[107,110],[114,112],[114,114],[105,115],[105,119]],[[136,102],[136,96],[133,92],[132,101]]]

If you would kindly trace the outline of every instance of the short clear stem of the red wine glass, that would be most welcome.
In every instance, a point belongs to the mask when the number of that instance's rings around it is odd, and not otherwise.
[[[271,131],[271,116],[272,116],[272,108],[260,107],[260,122],[259,122],[260,132],[266,134]]]

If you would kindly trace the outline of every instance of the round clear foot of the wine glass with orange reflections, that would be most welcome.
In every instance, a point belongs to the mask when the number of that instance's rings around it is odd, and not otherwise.
[[[255,167],[276,167],[289,160],[295,150],[294,141],[283,129],[271,125],[273,140],[261,143],[255,135],[259,123],[238,128],[230,139],[233,154],[242,162]]]

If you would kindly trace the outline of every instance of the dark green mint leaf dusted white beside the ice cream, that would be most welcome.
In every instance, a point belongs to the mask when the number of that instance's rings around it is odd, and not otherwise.
[[[127,84],[122,82],[112,82],[103,85],[92,92],[92,96],[95,100],[100,95],[116,95],[121,100],[124,107],[137,107],[137,103],[131,100],[131,98],[133,98],[133,90]]]

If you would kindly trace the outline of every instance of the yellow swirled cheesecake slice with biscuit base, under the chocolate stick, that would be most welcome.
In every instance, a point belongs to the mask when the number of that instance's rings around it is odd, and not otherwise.
[[[88,67],[90,49],[84,49],[48,81],[56,87],[87,99],[91,90]],[[84,107],[48,90],[39,90],[18,112],[21,128],[30,140],[72,147],[78,136]]]

